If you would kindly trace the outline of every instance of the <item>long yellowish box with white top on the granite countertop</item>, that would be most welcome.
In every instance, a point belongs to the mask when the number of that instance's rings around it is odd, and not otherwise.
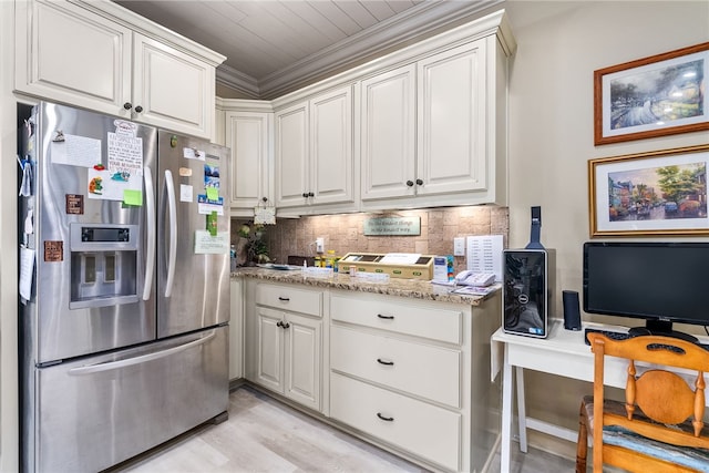
[[[392,278],[433,279],[433,256],[413,253],[348,253],[338,261],[338,273],[386,274]]]

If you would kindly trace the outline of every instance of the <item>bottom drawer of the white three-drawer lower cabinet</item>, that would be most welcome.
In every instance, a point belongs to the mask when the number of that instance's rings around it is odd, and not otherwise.
[[[331,373],[330,417],[449,470],[461,470],[458,413]]]

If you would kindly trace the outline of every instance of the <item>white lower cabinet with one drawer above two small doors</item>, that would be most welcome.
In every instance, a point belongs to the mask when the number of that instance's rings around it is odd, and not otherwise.
[[[320,411],[322,291],[247,281],[246,379]]]

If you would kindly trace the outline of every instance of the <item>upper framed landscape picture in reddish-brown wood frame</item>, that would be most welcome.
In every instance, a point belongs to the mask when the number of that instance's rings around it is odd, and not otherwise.
[[[596,145],[709,130],[709,42],[594,72]]]

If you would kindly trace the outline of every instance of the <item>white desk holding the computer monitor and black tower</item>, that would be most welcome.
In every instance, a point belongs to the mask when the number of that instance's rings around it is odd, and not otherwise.
[[[602,327],[596,323],[584,322],[586,327]],[[705,337],[699,337],[702,343]],[[500,328],[491,338],[491,376],[494,381],[502,368],[502,448],[500,453],[500,467],[502,473],[510,471],[510,449],[512,441],[512,367],[515,368],[517,387],[517,415],[520,422],[520,450],[527,451],[526,429],[534,429],[551,435],[576,442],[577,432],[527,418],[524,400],[524,370],[536,370],[545,373],[557,374],[593,382],[594,360],[590,347],[584,343],[584,330],[572,331],[564,329],[564,321],[554,319],[549,321],[549,336],[545,339],[522,337],[504,333]],[[625,388],[627,377],[627,361],[607,358],[604,382],[606,385]],[[643,364],[638,363],[638,368]],[[696,373],[695,373],[696,376]],[[588,393],[593,389],[589,387]],[[580,399],[578,400],[580,405]],[[707,397],[709,405],[709,397]]]

